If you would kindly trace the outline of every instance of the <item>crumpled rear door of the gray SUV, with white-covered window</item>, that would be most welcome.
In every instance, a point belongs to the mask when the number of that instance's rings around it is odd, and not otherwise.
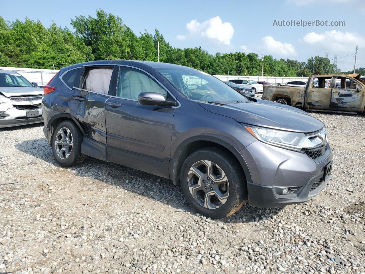
[[[82,67],[80,81],[68,98],[70,114],[80,122],[86,136],[105,145],[105,102],[110,98],[113,71],[114,66]]]

